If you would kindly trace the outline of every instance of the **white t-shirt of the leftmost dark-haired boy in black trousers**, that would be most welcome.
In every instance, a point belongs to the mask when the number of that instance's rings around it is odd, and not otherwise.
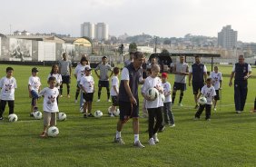
[[[3,77],[0,80],[1,89],[1,99],[5,101],[15,100],[15,88],[17,88],[17,83],[14,77],[6,78]]]

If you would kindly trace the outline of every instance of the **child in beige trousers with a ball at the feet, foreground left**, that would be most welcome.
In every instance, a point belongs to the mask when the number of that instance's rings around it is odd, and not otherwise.
[[[48,78],[49,87],[45,87],[39,96],[44,96],[44,131],[40,135],[41,137],[47,137],[47,129],[49,126],[56,125],[56,113],[59,112],[57,97],[59,95],[58,89],[55,87],[56,78],[50,76]]]

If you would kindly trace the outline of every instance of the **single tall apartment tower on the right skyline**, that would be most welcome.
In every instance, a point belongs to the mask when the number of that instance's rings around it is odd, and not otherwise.
[[[236,47],[237,31],[231,29],[231,25],[223,26],[222,31],[218,33],[218,45],[226,49]]]

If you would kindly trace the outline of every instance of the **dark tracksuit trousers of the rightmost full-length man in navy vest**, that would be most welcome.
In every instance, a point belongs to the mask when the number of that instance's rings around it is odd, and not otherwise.
[[[236,111],[243,111],[247,97],[247,80],[234,81],[234,103]]]

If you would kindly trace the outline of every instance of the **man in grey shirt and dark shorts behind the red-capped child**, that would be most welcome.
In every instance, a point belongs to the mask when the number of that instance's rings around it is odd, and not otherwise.
[[[189,65],[184,62],[184,56],[180,56],[180,62],[174,64],[172,73],[175,74],[172,92],[172,104],[174,103],[177,90],[181,91],[179,106],[182,106],[183,92],[186,90],[186,75],[189,74]]]

